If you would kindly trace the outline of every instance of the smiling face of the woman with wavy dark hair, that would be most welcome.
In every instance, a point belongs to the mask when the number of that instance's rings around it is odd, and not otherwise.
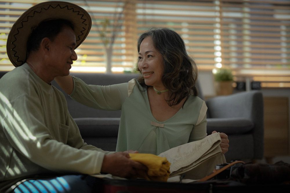
[[[163,57],[153,46],[150,36],[144,38],[140,44],[138,68],[146,85],[157,90],[166,89],[161,80],[164,70]]]

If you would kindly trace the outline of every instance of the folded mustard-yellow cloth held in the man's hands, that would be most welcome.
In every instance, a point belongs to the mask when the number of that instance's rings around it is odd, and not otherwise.
[[[171,163],[166,157],[160,157],[149,153],[129,153],[130,159],[147,166],[147,173],[139,173],[141,178],[166,182],[170,174]]]

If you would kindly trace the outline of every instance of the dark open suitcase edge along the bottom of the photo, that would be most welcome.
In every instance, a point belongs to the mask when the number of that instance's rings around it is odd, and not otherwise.
[[[102,193],[209,193],[209,192],[288,192],[290,184],[245,185],[237,181],[211,180],[194,183],[116,180],[99,178],[96,192]]]

